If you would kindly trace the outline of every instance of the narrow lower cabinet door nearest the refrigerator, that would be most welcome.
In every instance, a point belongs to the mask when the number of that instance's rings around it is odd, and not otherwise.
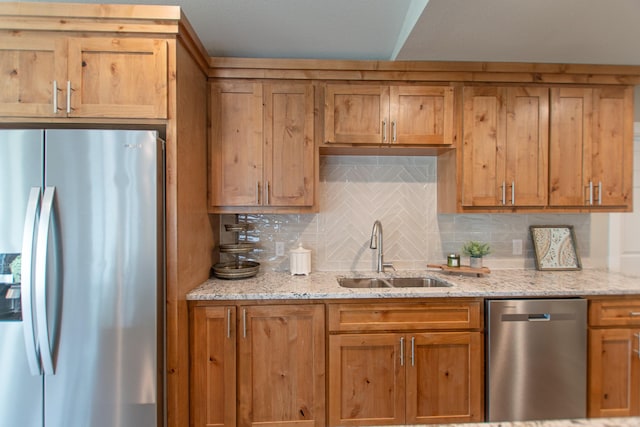
[[[191,425],[236,424],[235,307],[191,313]]]

